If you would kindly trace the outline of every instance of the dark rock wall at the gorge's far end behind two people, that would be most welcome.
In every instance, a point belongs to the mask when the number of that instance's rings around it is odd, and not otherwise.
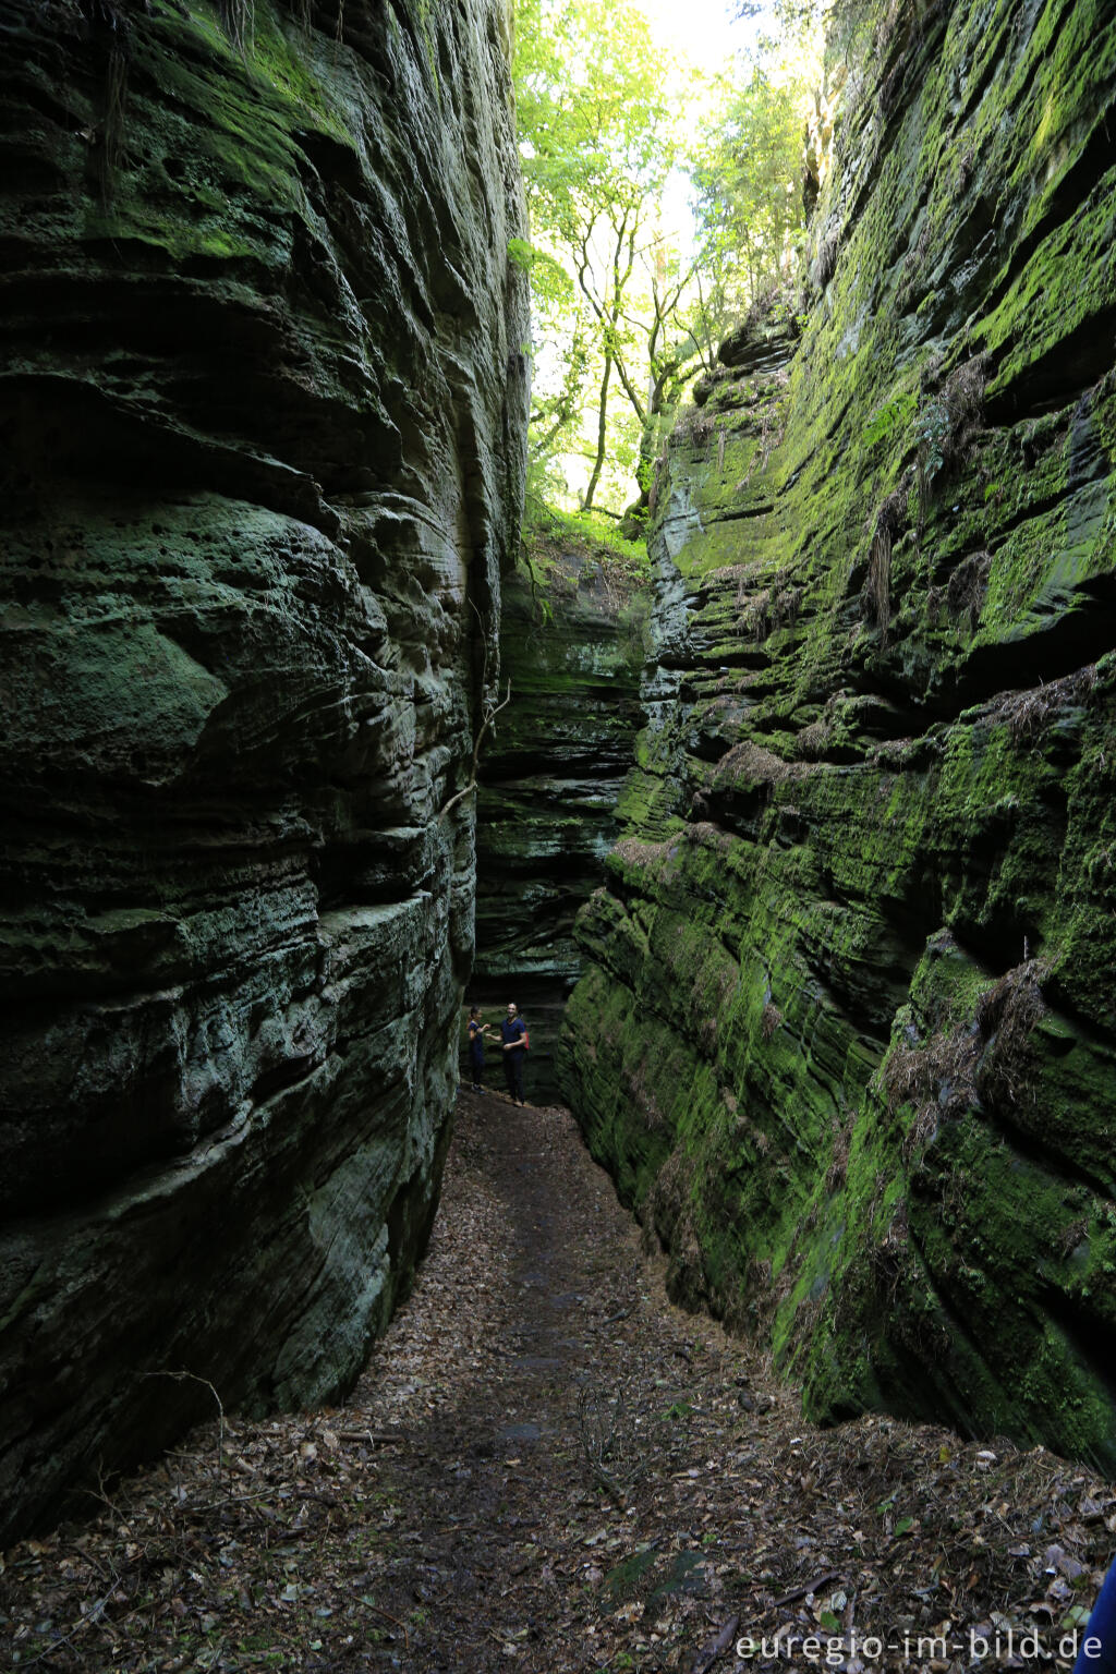
[[[639,727],[648,596],[592,547],[559,542],[534,586],[504,584],[500,668],[512,701],[485,740],[477,802],[477,961],[470,994],[530,1028],[527,1093],[557,1095],[554,1048],[581,976],[574,917],[619,835]],[[492,1060],[494,1085],[502,1085]]]

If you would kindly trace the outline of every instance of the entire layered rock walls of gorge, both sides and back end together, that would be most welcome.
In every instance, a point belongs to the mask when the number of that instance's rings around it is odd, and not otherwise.
[[[648,606],[510,0],[0,0],[0,1542],[353,1384],[467,994],[808,1416],[1116,1470],[1116,8],[833,15]]]

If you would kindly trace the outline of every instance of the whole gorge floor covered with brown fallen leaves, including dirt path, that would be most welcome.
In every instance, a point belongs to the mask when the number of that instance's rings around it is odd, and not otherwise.
[[[666,1301],[569,1112],[462,1095],[353,1398],[197,1431],[5,1553],[0,1666],[960,1674],[1036,1634],[1067,1667],[1113,1545],[1111,1487],[1042,1450],[811,1430]]]

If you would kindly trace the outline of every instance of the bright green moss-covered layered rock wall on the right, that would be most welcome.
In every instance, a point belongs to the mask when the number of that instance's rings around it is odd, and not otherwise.
[[[860,49],[863,42],[860,42]],[[674,432],[562,1075],[676,1294],[1116,1466],[1109,5],[892,7]]]

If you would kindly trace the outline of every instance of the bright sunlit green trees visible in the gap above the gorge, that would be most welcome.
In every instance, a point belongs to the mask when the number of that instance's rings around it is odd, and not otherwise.
[[[790,0],[788,0],[790,3]],[[584,459],[582,507],[646,502],[664,408],[755,296],[803,224],[801,90],[755,69],[689,85],[656,50],[637,5],[519,0],[515,97],[530,241],[535,487],[562,496]],[[664,189],[694,226],[669,233]]]

